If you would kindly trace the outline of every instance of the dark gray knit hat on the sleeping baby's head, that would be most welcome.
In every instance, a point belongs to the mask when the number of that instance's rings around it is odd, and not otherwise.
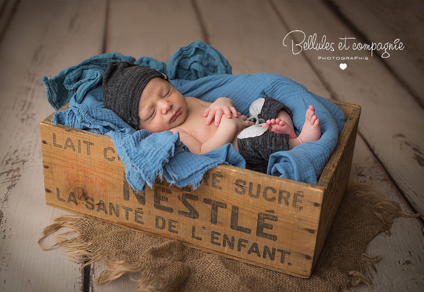
[[[167,75],[129,62],[110,62],[103,75],[103,103],[128,125],[138,130],[138,106],[146,84]]]

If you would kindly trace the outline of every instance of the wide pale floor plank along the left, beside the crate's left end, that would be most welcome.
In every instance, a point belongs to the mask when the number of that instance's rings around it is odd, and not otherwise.
[[[94,12],[93,12],[94,11]],[[94,18],[93,18],[94,17]],[[100,53],[102,1],[25,1],[0,44],[0,273],[4,291],[81,291],[80,264],[37,240],[64,214],[45,204],[39,122],[52,112],[43,75]],[[84,44],[82,46],[81,44]],[[52,239],[45,242],[51,245]]]

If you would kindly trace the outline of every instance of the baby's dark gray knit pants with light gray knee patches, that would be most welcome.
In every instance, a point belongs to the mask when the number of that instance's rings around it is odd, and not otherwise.
[[[293,119],[290,109],[271,97],[261,97],[251,103],[247,120],[255,125],[245,128],[237,136],[238,150],[246,161],[246,168],[266,173],[269,156],[278,151],[289,150],[289,134],[280,134],[262,128],[266,120],[275,119],[284,109]]]

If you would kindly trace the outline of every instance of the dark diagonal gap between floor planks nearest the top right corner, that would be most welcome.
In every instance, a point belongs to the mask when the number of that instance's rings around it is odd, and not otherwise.
[[[338,6],[335,3],[332,3],[331,1],[325,1],[325,5],[329,8],[330,11],[333,12],[335,17],[340,19],[340,22],[343,22],[343,24],[345,24],[351,31],[353,31],[355,34],[357,34],[359,36],[359,38],[362,39],[362,42],[367,43],[367,44],[371,43],[371,41],[368,39],[368,37],[365,36],[365,34],[362,31],[360,31],[352,22],[350,22],[345,17],[343,12],[340,11],[340,9],[338,8]],[[411,86],[409,86],[406,82],[403,81],[402,78],[400,78],[400,76],[395,72],[395,70],[393,70],[393,68],[387,62],[384,61],[384,58],[381,57],[381,54],[378,51],[376,51],[375,54],[377,56],[379,56],[379,58],[378,58],[379,61],[381,61],[381,63],[388,70],[388,72],[391,75],[393,75],[393,77],[397,81],[399,81],[399,84],[407,91],[407,93],[413,97],[413,99],[421,106],[421,108],[424,109],[424,104],[421,102],[420,98],[415,94],[413,89],[411,89]]]

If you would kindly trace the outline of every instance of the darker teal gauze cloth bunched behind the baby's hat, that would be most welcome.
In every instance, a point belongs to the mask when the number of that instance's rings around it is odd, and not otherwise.
[[[226,58],[218,50],[200,41],[178,49],[169,59],[168,66],[150,57],[141,57],[136,61],[134,57],[120,53],[106,53],[62,70],[52,79],[45,75],[42,82],[47,86],[48,102],[57,110],[76,94],[75,101],[81,103],[86,93],[101,82],[107,64],[120,61],[153,68],[165,73],[170,79],[195,80],[209,75],[231,74],[231,66]]]

